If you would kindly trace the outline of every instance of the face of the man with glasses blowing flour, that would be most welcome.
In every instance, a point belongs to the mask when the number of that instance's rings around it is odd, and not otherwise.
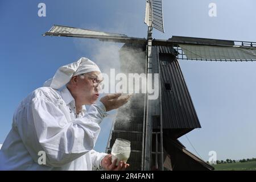
[[[77,76],[77,97],[85,105],[96,102],[100,96],[99,83],[102,81],[100,72],[89,72],[83,76]]]

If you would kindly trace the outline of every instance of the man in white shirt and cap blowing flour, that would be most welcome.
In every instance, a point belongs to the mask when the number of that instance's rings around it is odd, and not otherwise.
[[[0,150],[0,170],[123,170],[129,164],[93,150],[106,111],[129,96],[99,97],[101,71],[82,57],[60,67],[42,88],[20,102]],[[91,105],[86,111],[85,105]],[[44,159],[45,158],[45,159]]]

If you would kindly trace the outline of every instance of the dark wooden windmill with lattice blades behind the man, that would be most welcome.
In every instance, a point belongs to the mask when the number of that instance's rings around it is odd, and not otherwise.
[[[201,127],[179,60],[255,61],[256,43],[181,36],[153,39],[153,28],[164,32],[162,0],[146,1],[144,22],[147,39],[57,25],[44,35],[124,43],[119,51],[122,72],[159,73],[158,100],[148,100],[148,93],[134,94],[127,107],[118,109],[107,152],[115,138],[125,138],[131,141],[130,169],[211,170],[177,140]],[[131,59],[137,64],[127,69]]]

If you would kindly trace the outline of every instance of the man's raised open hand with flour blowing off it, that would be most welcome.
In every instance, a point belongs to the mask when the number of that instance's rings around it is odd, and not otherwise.
[[[106,111],[110,111],[112,109],[117,109],[124,105],[131,95],[121,96],[121,93],[108,94],[101,98],[101,102],[106,107]]]

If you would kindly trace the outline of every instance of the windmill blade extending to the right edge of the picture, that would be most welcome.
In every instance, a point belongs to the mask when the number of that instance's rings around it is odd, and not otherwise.
[[[256,61],[255,42],[172,36],[168,41],[155,40],[155,44],[173,46],[178,59]]]

